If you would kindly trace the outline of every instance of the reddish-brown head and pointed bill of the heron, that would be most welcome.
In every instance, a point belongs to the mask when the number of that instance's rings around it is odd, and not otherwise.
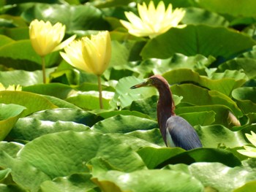
[[[141,87],[147,87],[147,86],[154,86],[156,88],[159,88],[161,85],[168,85],[167,80],[165,80],[164,77],[162,77],[159,74],[155,74],[151,77],[148,78],[148,80],[146,80],[145,82],[140,82],[137,85],[133,85],[131,88],[141,88]]]

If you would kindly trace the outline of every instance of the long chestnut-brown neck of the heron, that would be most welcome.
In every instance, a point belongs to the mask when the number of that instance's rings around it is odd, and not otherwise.
[[[160,85],[158,88],[159,100],[157,103],[157,120],[162,137],[166,144],[166,122],[171,115],[175,115],[173,96],[168,85]]]

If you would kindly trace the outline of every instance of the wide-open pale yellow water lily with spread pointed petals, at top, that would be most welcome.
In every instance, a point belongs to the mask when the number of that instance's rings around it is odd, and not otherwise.
[[[165,10],[165,3],[159,1],[157,8],[154,6],[154,2],[150,1],[148,7],[146,3],[138,4],[138,13],[140,17],[133,12],[124,12],[129,22],[126,20],[120,20],[121,24],[128,29],[129,34],[137,37],[157,37],[159,34],[163,34],[172,27],[184,27],[178,26],[178,23],[184,18],[184,9],[174,9],[172,4],[169,4]]]

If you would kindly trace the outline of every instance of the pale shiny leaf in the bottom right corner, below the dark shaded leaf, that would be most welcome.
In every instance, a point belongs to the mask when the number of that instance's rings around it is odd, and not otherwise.
[[[168,165],[167,169],[191,174],[213,191],[233,191],[248,181],[255,180],[255,171],[244,166],[229,167],[219,163],[195,163]],[[218,174],[216,174],[218,173]],[[210,177],[206,177],[209,175]]]

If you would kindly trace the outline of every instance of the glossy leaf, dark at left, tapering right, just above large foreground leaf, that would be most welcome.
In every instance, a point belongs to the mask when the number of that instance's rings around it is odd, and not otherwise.
[[[36,118],[20,118],[8,135],[8,139],[31,141],[44,134],[60,131],[89,131],[88,126],[66,121],[38,120]]]

